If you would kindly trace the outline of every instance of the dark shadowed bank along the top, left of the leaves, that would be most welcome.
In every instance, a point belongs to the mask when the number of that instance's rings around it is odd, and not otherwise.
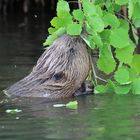
[[[30,12],[44,12],[46,14],[54,12],[58,0],[0,0],[0,12],[7,15],[9,13],[16,14],[17,12],[29,14]],[[70,2],[71,8],[76,8],[77,4],[74,1]]]

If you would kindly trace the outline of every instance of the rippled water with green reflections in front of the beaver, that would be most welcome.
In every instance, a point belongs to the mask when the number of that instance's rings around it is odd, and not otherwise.
[[[139,140],[140,97],[78,97],[78,109],[54,108],[45,99],[17,99],[1,106],[0,139]],[[21,113],[6,114],[9,108]]]

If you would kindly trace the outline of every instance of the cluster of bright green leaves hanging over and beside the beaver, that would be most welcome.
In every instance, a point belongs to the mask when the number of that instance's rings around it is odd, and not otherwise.
[[[44,46],[65,33],[81,36],[92,52],[99,50],[98,70],[111,75],[104,80],[94,72],[93,81],[98,78],[104,81],[104,84],[93,82],[95,93],[140,94],[140,55],[134,54],[140,1],[79,0],[79,5],[79,9],[71,11],[68,2],[58,1],[57,16],[51,21]]]

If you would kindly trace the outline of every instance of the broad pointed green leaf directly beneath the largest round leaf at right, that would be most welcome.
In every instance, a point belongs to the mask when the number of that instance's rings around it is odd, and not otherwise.
[[[135,49],[135,44],[133,42],[131,42],[130,45],[126,46],[125,48],[117,48],[115,50],[116,58],[121,63],[130,65],[133,59],[134,49]]]

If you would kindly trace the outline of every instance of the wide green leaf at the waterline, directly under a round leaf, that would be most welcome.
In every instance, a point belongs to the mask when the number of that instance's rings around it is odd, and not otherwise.
[[[128,94],[131,90],[131,85],[118,85],[114,87],[116,94]]]

